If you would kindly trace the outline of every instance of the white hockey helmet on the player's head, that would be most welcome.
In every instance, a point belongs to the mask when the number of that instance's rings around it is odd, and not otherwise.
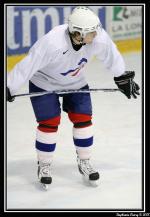
[[[68,19],[69,32],[80,32],[84,38],[87,33],[97,31],[101,27],[100,20],[88,7],[76,7]]]

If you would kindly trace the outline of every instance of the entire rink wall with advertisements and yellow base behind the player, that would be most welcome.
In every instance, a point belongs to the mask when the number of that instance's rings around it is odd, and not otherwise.
[[[89,6],[100,18],[118,49],[141,50],[141,6]],[[54,26],[67,22],[73,6],[8,6],[7,71],[25,57],[30,47]]]

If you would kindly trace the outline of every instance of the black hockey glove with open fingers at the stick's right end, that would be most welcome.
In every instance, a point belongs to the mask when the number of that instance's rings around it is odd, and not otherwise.
[[[131,99],[131,96],[137,98],[136,94],[140,95],[140,87],[133,81],[134,76],[134,71],[126,71],[123,75],[114,77],[116,85],[121,90],[121,92],[128,97],[128,99]]]

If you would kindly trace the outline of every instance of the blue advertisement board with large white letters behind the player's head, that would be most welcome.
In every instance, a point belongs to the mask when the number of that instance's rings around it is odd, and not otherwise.
[[[7,6],[7,55],[27,53],[42,35],[67,22],[74,6]],[[90,6],[105,29],[105,7]]]

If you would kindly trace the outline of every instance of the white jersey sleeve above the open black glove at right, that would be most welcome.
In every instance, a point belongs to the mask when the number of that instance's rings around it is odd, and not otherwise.
[[[118,77],[122,75],[125,72],[124,59],[105,30],[103,30],[103,36],[99,38],[99,42],[96,45],[97,58],[104,63],[113,76]]]

